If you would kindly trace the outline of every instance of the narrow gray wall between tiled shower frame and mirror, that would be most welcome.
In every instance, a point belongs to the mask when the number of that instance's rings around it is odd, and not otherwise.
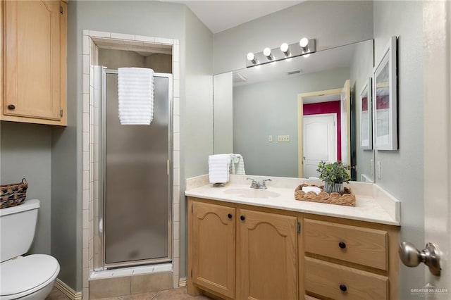
[[[180,277],[187,275],[185,178],[208,173],[213,154],[213,34],[185,8],[185,99],[180,103]],[[183,72],[180,73],[183,77]],[[183,113],[185,112],[185,113]],[[184,175],[183,175],[184,174]]]

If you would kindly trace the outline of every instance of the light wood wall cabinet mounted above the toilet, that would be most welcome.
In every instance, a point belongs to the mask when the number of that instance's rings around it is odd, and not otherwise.
[[[66,125],[66,1],[1,1],[0,120]]]

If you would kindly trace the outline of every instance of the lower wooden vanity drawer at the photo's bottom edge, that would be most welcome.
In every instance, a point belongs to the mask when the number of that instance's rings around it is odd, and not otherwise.
[[[305,258],[305,289],[332,299],[388,299],[388,278],[335,263]]]

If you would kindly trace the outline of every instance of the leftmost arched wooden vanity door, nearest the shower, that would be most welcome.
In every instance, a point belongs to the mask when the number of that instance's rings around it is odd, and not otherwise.
[[[235,298],[235,208],[192,202],[192,282]]]

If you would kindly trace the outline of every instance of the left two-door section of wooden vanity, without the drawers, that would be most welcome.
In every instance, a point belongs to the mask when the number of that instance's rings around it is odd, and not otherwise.
[[[214,203],[216,202],[216,203]],[[295,213],[188,198],[188,292],[297,298]]]

